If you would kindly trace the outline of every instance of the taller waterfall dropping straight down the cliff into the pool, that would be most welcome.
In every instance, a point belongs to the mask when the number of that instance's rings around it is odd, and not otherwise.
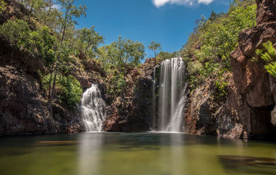
[[[159,131],[182,131],[187,83],[181,57],[161,64],[159,93]]]

